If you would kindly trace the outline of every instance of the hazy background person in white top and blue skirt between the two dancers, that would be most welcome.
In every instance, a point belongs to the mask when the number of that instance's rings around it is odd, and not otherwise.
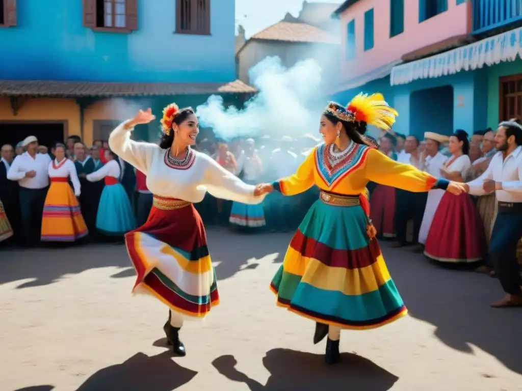
[[[263,175],[263,163],[257,156],[253,139],[245,140],[244,162],[242,172],[243,180],[247,184],[255,184],[259,177]],[[229,221],[231,224],[246,228],[263,227],[265,213],[262,205],[247,205],[241,202],[234,202],[230,211]]]

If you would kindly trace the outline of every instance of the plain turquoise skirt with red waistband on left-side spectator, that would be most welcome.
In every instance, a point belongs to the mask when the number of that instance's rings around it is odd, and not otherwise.
[[[107,236],[123,236],[136,228],[136,219],[125,188],[116,178],[105,177],[96,228]]]

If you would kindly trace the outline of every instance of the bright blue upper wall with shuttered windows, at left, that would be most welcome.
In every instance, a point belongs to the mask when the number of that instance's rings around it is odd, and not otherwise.
[[[95,32],[83,27],[81,0],[17,3],[18,26],[0,29],[0,79],[235,79],[234,0],[212,2],[211,35],[174,34],[175,0],[138,0],[138,30],[129,34]]]

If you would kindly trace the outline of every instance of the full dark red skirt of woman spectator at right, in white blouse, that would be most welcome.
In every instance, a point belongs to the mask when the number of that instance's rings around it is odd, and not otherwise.
[[[477,262],[486,255],[484,225],[471,197],[444,193],[426,239],[424,254],[440,262]]]

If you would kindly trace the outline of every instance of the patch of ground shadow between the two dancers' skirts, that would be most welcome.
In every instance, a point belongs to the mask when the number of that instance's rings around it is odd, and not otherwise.
[[[207,238],[212,262],[219,262],[215,269],[220,281],[244,270],[254,270],[259,262],[282,262],[292,233],[234,235],[221,227],[211,227],[207,230]],[[275,253],[278,255],[274,259],[263,259]],[[248,262],[252,258],[255,260]]]

